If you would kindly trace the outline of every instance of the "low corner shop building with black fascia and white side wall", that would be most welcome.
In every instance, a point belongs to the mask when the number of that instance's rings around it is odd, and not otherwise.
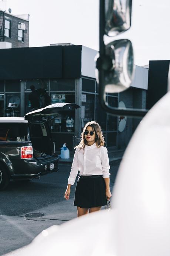
[[[51,103],[70,102],[81,107],[49,121],[57,151],[65,142],[73,151],[82,128],[91,120],[101,125],[108,149],[125,148],[137,122],[112,116],[101,108],[95,79],[96,53],[81,45],[0,49],[0,115],[24,116],[31,110],[30,86],[38,89],[43,84]],[[123,102],[126,108],[145,108],[144,84],[135,82],[123,93],[109,93],[108,104],[118,107]]]

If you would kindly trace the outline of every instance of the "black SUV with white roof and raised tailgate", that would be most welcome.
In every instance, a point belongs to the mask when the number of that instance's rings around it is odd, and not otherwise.
[[[0,117],[0,190],[10,179],[30,180],[58,171],[59,158],[47,120],[75,108],[79,106],[56,103],[25,117]]]

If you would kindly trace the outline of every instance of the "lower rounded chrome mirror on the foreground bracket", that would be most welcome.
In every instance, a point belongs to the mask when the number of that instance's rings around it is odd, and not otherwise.
[[[105,58],[96,61],[97,80],[103,70],[100,86],[105,93],[118,93],[129,88],[133,78],[133,48],[128,39],[115,40],[105,47]]]

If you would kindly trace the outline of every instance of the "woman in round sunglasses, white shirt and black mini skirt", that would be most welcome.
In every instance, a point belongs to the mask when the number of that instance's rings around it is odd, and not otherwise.
[[[95,121],[88,122],[81,134],[81,142],[76,146],[71,172],[68,178],[65,199],[69,199],[71,185],[76,184],[74,206],[77,216],[99,211],[107,204],[110,193],[108,151],[103,147],[105,141],[101,127]]]

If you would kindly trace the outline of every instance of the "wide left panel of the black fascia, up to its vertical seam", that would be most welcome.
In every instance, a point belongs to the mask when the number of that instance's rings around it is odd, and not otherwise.
[[[62,47],[0,49],[0,79],[62,77]]]

